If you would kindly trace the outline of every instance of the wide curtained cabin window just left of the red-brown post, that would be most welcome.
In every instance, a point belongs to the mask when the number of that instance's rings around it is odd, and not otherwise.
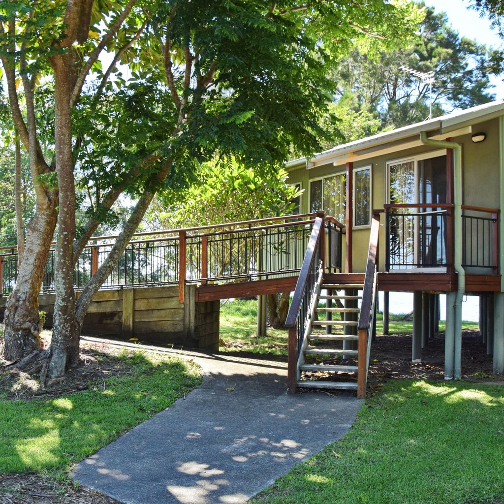
[[[340,222],[345,222],[345,199],[345,173],[310,181],[310,212],[323,210]]]

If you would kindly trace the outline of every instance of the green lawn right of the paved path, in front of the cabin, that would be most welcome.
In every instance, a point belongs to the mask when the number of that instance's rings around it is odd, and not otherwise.
[[[347,435],[252,504],[501,504],[504,388],[389,381]]]

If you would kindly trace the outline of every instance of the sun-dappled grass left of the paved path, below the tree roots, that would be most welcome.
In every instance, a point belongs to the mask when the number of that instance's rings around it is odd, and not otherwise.
[[[107,358],[103,354],[103,358]],[[117,357],[116,357],[117,358]],[[194,363],[123,351],[129,373],[56,399],[0,396],[0,473],[62,474],[122,433],[170,406],[201,382]],[[105,389],[105,390],[103,390]]]

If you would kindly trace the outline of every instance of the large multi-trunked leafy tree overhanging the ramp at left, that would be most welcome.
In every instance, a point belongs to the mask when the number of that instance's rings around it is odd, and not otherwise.
[[[331,58],[357,36],[403,37],[416,19],[409,4],[379,0],[3,4],[0,56],[36,193],[6,307],[6,357],[35,349],[28,360],[42,356],[37,365],[51,377],[75,365],[89,303],[159,188],[182,185],[216,153],[254,163],[280,162],[292,144],[313,153],[333,92],[326,78]],[[98,57],[105,48],[112,62],[103,71]],[[41,121],[51,118],[54,128],[42,131]],[[49,162],[44,136],[54,147]],[[78,221],[76,186],[86,182],[94,204]],[[136,205],[76,302],[73,267],[122,193]],[[56,220],[53,336],[50,349],[39,353],[38,289]]]

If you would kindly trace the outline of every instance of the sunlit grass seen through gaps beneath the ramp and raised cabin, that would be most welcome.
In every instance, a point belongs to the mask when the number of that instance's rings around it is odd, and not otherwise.
[[[323,306],[322,304],[320,306]],[[321,319],[324,313],[321,313]],[[390,334],[411,334],[413,322],[402,321],[403,315],[391,314]],[[463,322],[462,329],[477,330],[477,322]],[[445,330],[445,322],[439,322],[439,331]],[[287,331],[268,329],[268,336],[258,338],[257,301],[230,301],[221,304],[220,337],[226,343],[221,351],[247,351],[270,355],[287,355]],[[383,334],[383,315],[378,314],[376,332]]]

